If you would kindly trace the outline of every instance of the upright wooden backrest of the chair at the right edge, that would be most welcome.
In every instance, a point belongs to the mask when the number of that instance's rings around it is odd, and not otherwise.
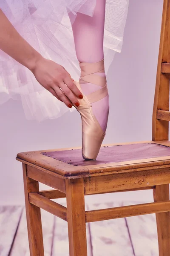
[[[154,43],[154,42],[153,42]],[[170,0],[164,0],[155,99],[152,140],[168,140],[170,94]]]

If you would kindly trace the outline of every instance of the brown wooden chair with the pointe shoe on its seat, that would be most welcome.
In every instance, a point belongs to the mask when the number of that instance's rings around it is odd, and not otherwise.
[[[87,256],[86,222],[149,213],[156,213],[159,256],[170,255],[169,74],[170,0],[164,0],[152,141],[102,147],[96,161],[82,160],[72,148],[17,154],[31,256],[44,255],[40,208],[68,221],[70,256]],[[38,182],[54,190],[39,191]],[[153,189],[153,203],[85,211],[85,195],[143,189]],[[50,200],[65,197],[67,208]]]

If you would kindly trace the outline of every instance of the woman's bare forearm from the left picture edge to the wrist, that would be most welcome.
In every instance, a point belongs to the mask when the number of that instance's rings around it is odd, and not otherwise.
[[[16,61],[34,70],[42,56],[24,40],[0,9],[0,49]]]

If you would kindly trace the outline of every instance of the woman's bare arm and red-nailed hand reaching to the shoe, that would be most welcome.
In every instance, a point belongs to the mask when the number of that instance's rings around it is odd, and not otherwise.
[[[64,67],[43,58],[31,47],[12,26],[1,9],[0,49],[31,70],[37,81],[69,108],[78,102],[76,96],[82,99],[82,93]]]

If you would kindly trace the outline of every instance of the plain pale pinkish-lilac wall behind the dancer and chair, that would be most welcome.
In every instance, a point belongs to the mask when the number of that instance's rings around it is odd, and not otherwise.
[[[130,0],[124,44],[108,71],[110,118],[104,143],[151,140],[163,0]],[[0,204],[23,204],[17,152],[81,145],[79,113],[27,121],[20,102],[0,105]],[[44,186],[42,186],[44,188]],[[150,201],[151,192],[95,196],[96,201]],[[87,200],[93,200],[88,197]]]

